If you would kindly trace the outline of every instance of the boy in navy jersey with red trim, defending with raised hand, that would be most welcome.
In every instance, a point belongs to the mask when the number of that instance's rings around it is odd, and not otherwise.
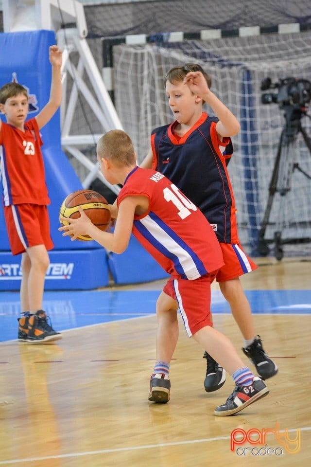
[[[229,302],[232,315],[244,337],[243,352],[255,364],[263,379],[277,372],[276,364],[264,352],[256,335],[254,320],[239,276],[257,268],[240,244],[233,190],[226,165],[233,152],[231,136],[240,124],[231,111],[210,90],[210,76],[197,64],[172,68],[165,77],[166,95],[175,117],[171,125],[156,128],[151,149],[140,164],[168,177],[206,216],[220,242],[225,265],[216,281]],[[217,117],[209,117],[203,104]],[[178,339],[177,316],[165,322],[166,313],[157,303],[159,343],[170,340],[172,352]],[[172,353],[173,355],[173,353]],[[216,391],[225,383],[220,362],[207,352],[204,387]]]

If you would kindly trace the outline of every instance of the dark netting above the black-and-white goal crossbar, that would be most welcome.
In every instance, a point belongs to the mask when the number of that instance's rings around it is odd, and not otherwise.
[[[90,36],[311,25],[311,0],[157,0],[85,5]]]

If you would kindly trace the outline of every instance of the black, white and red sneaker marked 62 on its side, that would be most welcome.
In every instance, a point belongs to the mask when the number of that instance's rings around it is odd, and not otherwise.
[[[267,386],[262,379],[255,377],[253,383],[249,386],[237,384],[233,393],[227,398],[226,403],[216,407],[214,414],[220,417],[233,415],[267,394],[269,394]]]

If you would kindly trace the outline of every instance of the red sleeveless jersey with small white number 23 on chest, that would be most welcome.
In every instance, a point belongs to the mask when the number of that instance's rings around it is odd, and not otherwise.
[[[40,147],[42,144],[35,118],[25,122],[25,131],[2,122],[0,173],[5,206],[50,204]]]

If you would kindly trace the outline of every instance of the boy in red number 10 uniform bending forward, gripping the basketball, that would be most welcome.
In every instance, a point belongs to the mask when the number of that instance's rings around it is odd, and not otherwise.
[[[219,242],[205,216],[163,174],[137,166],[133,144],[123,131],[111,130],[100,138],[97,159],[105,179],[123,186],[117,206],[110,206],[111,217],[117,219],[114,232],[98,229],[81,207],[81,217],[60,219],[69,225],[59,231],[71,235],[71,240],[89,235],[115,253],[126,250],[133,233],[171,275],[159,297],[167,320],[174,320],[179,308],[188,336],[221,362],[236,383],[232,395],[216,408],[215,415],[232,415],[267,395],[267,387],[244,366],[231,341],[212,327],[210,284],[224,263]],[[152,402],[170,400],[171,358],[171,342],[157,342],[148,397]]]

